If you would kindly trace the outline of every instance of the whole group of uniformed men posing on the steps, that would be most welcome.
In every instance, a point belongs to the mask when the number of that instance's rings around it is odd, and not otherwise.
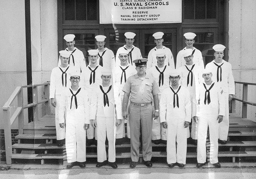
[[[193,46],[196,34],[185,33],[186,47],[178,52],[175,68],[171,50],[162,45],[164,33],[153,34],[156,47],[147,59],[133,45],[136,34],[124,35],[126,44],[116,58],[104,47],[106,36],[96,36],[98,49],[88,50],[88,66],[74,47],[74,34],[64,36],[67,48],[60,51],[58,66],[52,70],[50,99],[57,144],[66,145],[67,168],[76,163],[85,167],[86,144],[97,145],[96,167],[117,168],[115,145],[121,145],[124,137],[131,143],[130,167],[136,167],[140,133],[146,166],[152,167],[153,142],[166,144],[169,167],[184,167],[190,123],[198,147],[196,167],[206,162],[208,127],[210,163],[220,167],[218,143],[226,144],[228,104],[235,94],[231,65],[223,60],[225,46],[213,46],[215,59],[204,68],[202,53]]]

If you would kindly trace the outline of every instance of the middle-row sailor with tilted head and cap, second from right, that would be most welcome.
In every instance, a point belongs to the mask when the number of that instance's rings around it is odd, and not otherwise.
[[[192,116],[196,117],[196,91],[198,90],[199,83],[203,80],[202,70],[203,67],[194,63],[194,54],[192,49],[182,50],[182,57],[186,61],[178,70],[181,72],[180,84],[186,87],[190,93]],[[191,125],[191,138],[194,144],[197,145],[197,124],[192,120]],[[190,137],[189,127],[187,128],[187,137]]]

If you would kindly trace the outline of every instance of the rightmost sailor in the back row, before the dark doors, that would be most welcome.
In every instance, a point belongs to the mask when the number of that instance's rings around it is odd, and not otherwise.
[[[182,51],[184,51],[186,49],[192,49],[193,50],[193,56],[194,56],[193,62],[194,62],[194,64],[197,64],[198,66],[201,66],[202,68],[204,68],[204,60],[203,60],[203,57],[202,57],[202,52],[200,52],[200,50],[193,47],[193,44],[195,43],[194,38],[196,37],[196,34],[194,34],[192,32],[187,32],[183,36],[185,37],[186,47],[183,48],[182,50],[180,50],[180,52],[178,52],[178,54],[177,54],[176,69],[178,69],[182,65],[186,64],[186,61],[184,60],[184,58],[182,56]]]

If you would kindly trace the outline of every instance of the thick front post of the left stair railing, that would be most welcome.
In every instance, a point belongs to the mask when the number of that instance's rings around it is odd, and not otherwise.
[[[5,154],[6,164],[12,164],[12,134],[11,134],[11,123],[10,123],[10,107],[7,110],[3,110],[3,121],[4,121],[4,141],[5,141]]]

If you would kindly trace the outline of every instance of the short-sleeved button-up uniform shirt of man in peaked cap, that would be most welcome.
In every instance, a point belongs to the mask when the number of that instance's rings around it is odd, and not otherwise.
[[[148,74],[142,79],[138,74],[130,76],[123,91],[130,93],[130,101],[134,103],[151,103],[153,96],[160,92],[154,78]]]

